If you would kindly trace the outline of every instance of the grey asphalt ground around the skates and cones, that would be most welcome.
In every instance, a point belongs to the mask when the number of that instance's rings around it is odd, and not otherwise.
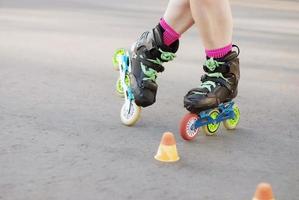
[[[153,27],[167,1],[1,0],[0,199],[251,199],[261,181],[299,197],[299,2],[233,1],[241,49],[233,132],[183,141],[183,96],[199,84],[194,28],[134,127],[111,56]],[[172,131],[181,160],[153,159]]]

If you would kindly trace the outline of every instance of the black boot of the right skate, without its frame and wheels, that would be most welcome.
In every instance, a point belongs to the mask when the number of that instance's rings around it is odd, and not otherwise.
[[[215,108],[220,103],[228,102],[238,93],[240,79],[239,48],[231,51],[224,58],[207,58],[201,77],[201,85],[190,90],[184,97],[184,107],[192,113]]]

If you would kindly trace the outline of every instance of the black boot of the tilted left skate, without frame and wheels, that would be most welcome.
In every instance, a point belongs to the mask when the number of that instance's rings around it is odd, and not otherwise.
[[[130,84],[138,106],[146,107],[155,103],[157,73],[164,71],[162,64],[173,60],[179,47],[178,40],[170,46],[164,45],[163,31],[157,25],[151,31],[144,32],[130,51]]]

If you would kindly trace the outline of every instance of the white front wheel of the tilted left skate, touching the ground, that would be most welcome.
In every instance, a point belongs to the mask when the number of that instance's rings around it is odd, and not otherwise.
[[[125,102],[120,111],[121,122],[126,126],[133,126],[140,118],[141,108],[135,102]]]

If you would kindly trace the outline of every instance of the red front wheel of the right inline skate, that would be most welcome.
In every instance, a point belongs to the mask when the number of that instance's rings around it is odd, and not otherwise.
[[[193,140],[199,133],[199,128],[195,129],[194,124],[199,119],[198,115],[193,113],[186,114],[180,124],[180,133],[184,140]]]

